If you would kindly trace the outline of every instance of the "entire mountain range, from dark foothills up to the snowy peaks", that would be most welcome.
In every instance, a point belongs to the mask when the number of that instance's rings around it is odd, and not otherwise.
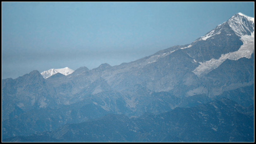
[[[252,17],[129,63],[64,69],[2,80],[3,141],[254,141]]]

